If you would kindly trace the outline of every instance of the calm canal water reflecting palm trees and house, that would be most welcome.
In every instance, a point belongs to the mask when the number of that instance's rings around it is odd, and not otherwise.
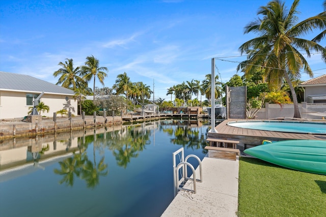
[[[206,154],[199,120],[92,131],[2,141],[0,216],[160,216],[173,200],[172,152]]]

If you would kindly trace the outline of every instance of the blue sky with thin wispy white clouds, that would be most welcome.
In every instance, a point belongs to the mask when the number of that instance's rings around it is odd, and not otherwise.
[[[243,35],[243,27],[268,2],[1,1],[0,71],[56,83],[53,72],[60,61],[72,58],[77,67],[94,55],[109,70],[105,86],[112,87],[117,75],[126,72],[132,82],[142,81],[151,89],[154,81],[155,100],[170,100],[167,88],[202,81],[211,73],[211,58],[238,56],[239,46],[256,37]],[[285,2],[289,7],[293,1]],[[322,2],[301,0],[299,20],[322,12]],[[326,46],[325,40],[320,44]],[[236,74],[237,63],[230,61],[216,60],[223,82]],[[314,77],[326,73],[320,55],[312,55],[308,62]],[[302,80],[308,79],[302,75]],[[102,87],[99,81],[96,86]]]

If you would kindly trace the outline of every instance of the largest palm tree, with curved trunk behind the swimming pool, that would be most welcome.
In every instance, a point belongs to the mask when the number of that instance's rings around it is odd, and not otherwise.
[[[247,53],[248,58],[238,66],[245,74],[252,74],[261,66],[265,67],[265,76],[271,79],[285,78],[293,97],[294,116],[300,118],[297,98],[290,77],[300,78],[300,70],[313,76],[310,66],[300,53],[304,50],[308,57],[311,51],[320,52],[326,60],[326,48],[319,45],[325,37],[326,12],[297,23],[299,0],[294,0],[289,11],[280,0],[274,0],[265,7],[260,7],[257,15],[262,15],[244,27],[244,33],[257,33],[258,37],[242,44],[239,50]],[[313,40],[299,38],[309,34],[313,29],[321,29],[322,33]],[[273,82],[273,80],[271,80]]]

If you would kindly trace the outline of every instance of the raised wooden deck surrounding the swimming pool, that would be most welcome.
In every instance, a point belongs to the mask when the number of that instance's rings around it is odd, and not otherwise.
[[[251,130],[244,128],[231,127],[227,125],[230,121],[248,120],[248,119],[227,119],[215,127],[218,133],[208,132],[208,138],[238,140],[240,146],[246,148],[249,146],[261,145],[263,140],[281,141],[290,139],[309,139],[326,140],[326,135],[303,134],[303,133],[284,133],[276,131]]]

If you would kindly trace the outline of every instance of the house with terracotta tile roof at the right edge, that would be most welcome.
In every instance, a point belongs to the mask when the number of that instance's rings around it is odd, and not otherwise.
[[[326,103],[326,74],[302,82],[307,103]]]

